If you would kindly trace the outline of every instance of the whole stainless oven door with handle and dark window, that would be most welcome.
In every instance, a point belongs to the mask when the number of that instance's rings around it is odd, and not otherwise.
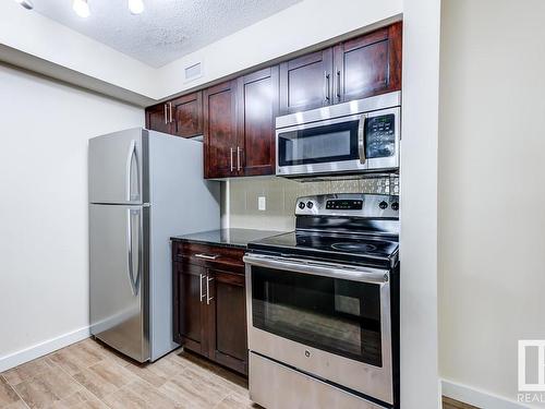
[[[244,261],[251,351],[393,404],[388,270]]]

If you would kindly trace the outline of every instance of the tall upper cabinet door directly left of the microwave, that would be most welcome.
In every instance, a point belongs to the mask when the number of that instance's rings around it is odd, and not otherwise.
[[[244,176],[275,175],[275,118],[278,115],[278,67],[239,79],[237,159]]]

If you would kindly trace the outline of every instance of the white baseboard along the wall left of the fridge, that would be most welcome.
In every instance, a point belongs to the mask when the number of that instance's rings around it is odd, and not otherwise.
[[[22,363],[32,361],[33,359],[55,352],[58,349],[68,347],[71,344],[88,338],[89,335],[89,327],[86,326],[73,330],[72,333],[63,334],[59,337],[36,344],[21,351],[0,357],[0,372],[21,365]]]

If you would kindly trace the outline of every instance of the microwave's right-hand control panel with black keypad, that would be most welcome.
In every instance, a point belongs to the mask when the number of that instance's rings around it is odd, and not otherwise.
[[[368,170],[399,168],[400,108],[383,109],[363,116],[363,147]],[[361,140],[360,140],[361,141]]]

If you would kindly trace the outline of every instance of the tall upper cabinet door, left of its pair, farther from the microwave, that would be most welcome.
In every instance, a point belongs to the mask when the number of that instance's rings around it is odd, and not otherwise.
[[[237,176],[237,81],[204,91],[205,177]]]

